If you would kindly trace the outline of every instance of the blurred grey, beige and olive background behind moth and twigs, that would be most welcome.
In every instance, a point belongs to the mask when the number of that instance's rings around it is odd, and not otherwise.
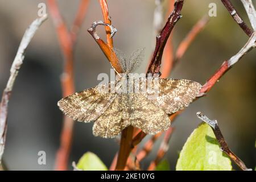
[[[9,70],[20,40],[28,25],[37,17],[38,3],[46,1],[0,0],[0,93],[9,78]],[[186,78],[204,84],[222,62],[229,59],[247,42],[247,35],[234,22],[220,1],[185,1],[183,18],[175,26],[173,44],[176,48],[192,26],[208,14],[210,2],[217,4],[217,17],[209,23],[191,44],[170,78]],[[247,21],[240,1],[232,1]],[[70,26],[79,1],[58,1],[61,14]],[[254,2],[256,3],[256,2]],[[138,48],[146,48],[144,62],[138,72],[145,72],[154,50],[155,35],[152,19],[154,0],[109,0],[109,13],[118,32],[114,47],[127,55]],[[48,9],[47,9],[48,13]],[[99,73],[110,73],[110,64],[86,31],[95,20],[102,20],[98,1],[90,1],[85,20],[75,46],[76,91],[98,84]],[[250,23],[247,23],[250,25]],[[104,27],[99,34],[105,39]],[[256,138],[256,50],[252,50],[213,87],[207,97],[191,104],[174,122],[175,132],[165,158],[175,169],[179,151],[192,131],[199,125],[197,111],[216,118],[229,147],[246,166],[255,167]],[[63,56],[52,18],[39,28],[28,46],[24,64],[16,79],[10,100],[7,143],[3,160],[10,170],[52,170],[59,147],[62,113],[57,101],[62,97],[60,74]],[[77,162],[86,151],[97,154],[110,166],[118,143],[115,139],[93,137],[93,123],[75,123],[71,162]],[[147,139],[144,139],[145,141]],[[154,159],[160,142],[143,160],[142,168]],[[38,164],[38,152],[46,151],[46,165]],[[71,166],[71,165],[70,165]]]

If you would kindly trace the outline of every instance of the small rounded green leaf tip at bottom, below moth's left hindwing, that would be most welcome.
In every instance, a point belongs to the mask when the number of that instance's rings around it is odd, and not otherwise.
[[[77,168],[83,171],[108,171],[105,164],[92,152],[86,152],[77,164]]]

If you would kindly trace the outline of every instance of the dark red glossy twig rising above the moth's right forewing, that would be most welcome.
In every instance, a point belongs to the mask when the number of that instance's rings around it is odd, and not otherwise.
[[[166,25],[160,32],[160,35],[156,36],[155,51],[150,61],[147,73],[160,73],[160,65],[162,62],[164,47],[166,46],[166,42],[171,34],[172,28],[174,28],[177,20],[181,18],[180,11],[182,7],[183,0],[177,0],[174,5],[174,11],[172,11],[172,14],[169,16]]]

